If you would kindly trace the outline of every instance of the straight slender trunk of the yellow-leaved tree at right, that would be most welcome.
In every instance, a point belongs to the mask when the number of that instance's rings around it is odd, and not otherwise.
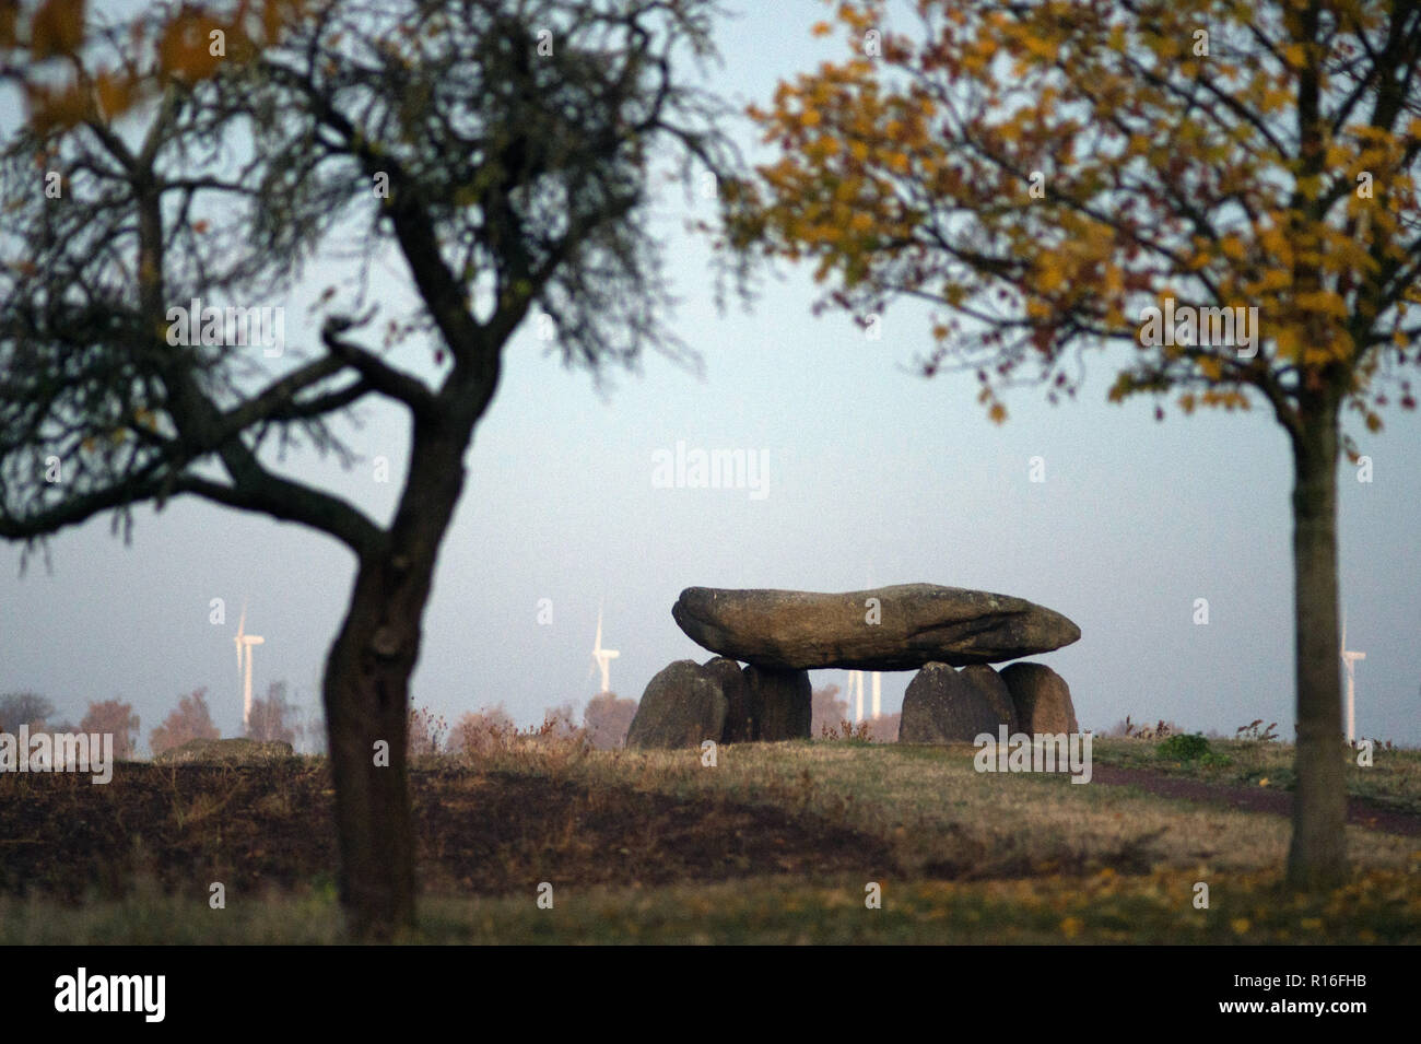
[[[1337,635],[1337,409],[1302,413],[1293,435],[1297,749],[1287,882],[1320,891],[1347,876],[1347,794]]]

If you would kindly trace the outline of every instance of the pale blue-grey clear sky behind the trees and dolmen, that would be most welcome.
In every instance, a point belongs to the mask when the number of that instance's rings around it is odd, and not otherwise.
[[[718,31],[723,64],[708,85],[743,107],[780,78],[836,58],[813,38],[817,0],[736,3]],[[14,114],[0,108],[10,126]],[[726,126],[747,151],[745,121]],[[917,375],[928,314],[887,312],[871,341],[850,317],[811,315],[816,287],[782,268],[746,308],[713,300],[706,240],[679,190],[657,210],[681,298],[669,327],[703,372],[647,357],[638,374],[595,385],[566,369],[531,330],[509,347],[499,392],[468,456],[468,483],[445,540],[423,622],[412,703],[450,724],[503,707],[520,724],[595,695],[591,648],[620,651],[611,687],[639,697],[676,659],[705,660],[675,625],[686,587],[854,591],[931,582],[1027,598],[1070,616],[1081,639],[1030,658],[1070,685],[1081,727],[1174,722],[1232,736],[1255,719],[1293,734],[1292,464],[1270,413],[1171,410],[1106,402],[1118,355],[1087,358],[1076,401],[1010,392],[1005,425],[986,419],[969,375]],[[304,301],[331,281],[317,268],[293,293],[286,337],[300,344]],[[379,286],[399,300],[404,273]],[[304,297],[303,297],[304,294]],[[418,368],[429,349],[394,358]],[[341,491],[385,520],[402,415],[364,409],[351,430],[365,460],[351,472],[311,456],[290,474]],[[1361,736],[1421,744],[1421,419],[1391,410],[1371,436],[1351,423],[1373,480],[1340,472],[1341,595],[1357,665]],[[746,489],[661,489],[658,450],[736,450],[769,462],[764,496]],[[1044,480],[1032,482],[1042,457]],[[354,560],[297,526],[180,499],[135,511],[132,544],[109,518],[67,530],[21,575],[20,548],[0,545],[0,693],[36,690],[78,722],[91,700],[124,699],[142,741],[179,697],[205,687],[223,734],[239,734],[242,685],[233,634],[264,636],[254,687],[286,680],[304,717],[320,703],[327,649],[344,615]],[[226,619],[209,622],[212,599]],[[1196,624],[1196,599],[1208,624]],[[540,622],[541,599],[551,622]],[[911,672],[885,673],[898,710]],[[816,686],[845,672],[811,672]]]

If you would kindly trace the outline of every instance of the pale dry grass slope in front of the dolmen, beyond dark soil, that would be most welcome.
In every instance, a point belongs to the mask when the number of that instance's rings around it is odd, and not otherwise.
[[[1097,750],[1111,743],[1152,751],[1138,740],[1097,741]],[[1280,768],[1290,750],[1270,747],[1249,771],[1286,776]],[[573,743],[514,743],[470,764],[546,773],[591,793],[630,785],[681,800],[813,812],[882,837],[908,876],[1260,872],[1280,866],[1287,852],[1290,827],[1279,815],[1167,800],[1130,787],[1073,784],[1064,774],[978,773],[973,753],[966,744],[742,744],[720,747],[718,764],[705,767],[699,750],[590,751]],[[1385,776],[1378,771],[1367,780],[1405,791],[1415,783],[1414,771],[1398,758]],[[1404,868],[1417,847],[1414,839],[1361,828],[1349,828],[1349,844],[1360,871]]]

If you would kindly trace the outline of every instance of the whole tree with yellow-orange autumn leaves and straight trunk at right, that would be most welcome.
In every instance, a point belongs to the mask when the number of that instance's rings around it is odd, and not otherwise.
[[[1297,791],[1287,876],[1344,878],[1341,430],[1368,432],[1421,334],[1421,7],[1387,0],[875,0],[850,55],[750,115],[776,162],[725,186],[733,256],[816,263],[818,307],[939,311],[924,372],[1269,406],[1293,449]],[[821,23],[816,34],[834,27]],[[1157,406],[1157,415],[1162,410]]]

